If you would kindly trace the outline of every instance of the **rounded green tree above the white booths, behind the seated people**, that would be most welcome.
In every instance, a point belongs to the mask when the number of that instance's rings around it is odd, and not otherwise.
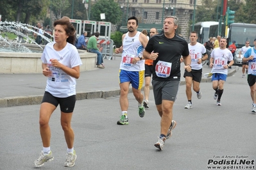
[[[114,0],[99,0],[92,5],[90,10],[91,20],[101,20],[100,14],[105,13],[105,21],[118,24],[121,21],[122,12],[118,3]]]

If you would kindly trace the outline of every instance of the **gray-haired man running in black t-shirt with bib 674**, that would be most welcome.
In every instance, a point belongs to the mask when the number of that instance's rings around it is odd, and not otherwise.
[[[153,93],[155,105],[161,117],[160,137],[155,147],[162,150],[166,139],[171,137],[176,126],[173,120],[173,104],[180,86],[180,56],[183,56],[185,70],[191,72],[191,57],[187,42],[176,35],[178,18],[168,16],[164,19],[164,34],[149,39],[143,57],[153,59]]]

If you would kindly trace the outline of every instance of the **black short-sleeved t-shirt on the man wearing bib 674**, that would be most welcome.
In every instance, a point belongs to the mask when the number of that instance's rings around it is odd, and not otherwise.
[[[153,80],[180,81],[180,56],[189,56],[188,43],[181,36],[175,34],[173,38],[166,38],[164,34],[155,35],[149,39],[145,50],[149,53],[158,52],[158,58],[153,61]],[[155,73],[155,66],[159,60],[172,63],[169,77],[158,77]]]

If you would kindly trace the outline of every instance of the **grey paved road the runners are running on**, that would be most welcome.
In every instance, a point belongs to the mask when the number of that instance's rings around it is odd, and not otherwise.
[[[98,72],[107,72],[107,69]],[[222,106],[217,106],[213,99],[212,84],[202,82],[202,98],[198,100],[193,93],[193,109],[183,109],[187,98],[185,86],[180,86],[173,109],[177,126],[163,151],[153,146],[160,132],[160,118],[152,91],[150,108],[144,118],[139,118],[132,93],[128,95],[130,124],[125,126],[116,125],[121,115],[118,95],[78,100],[72,123],[78,158],[72,169],[202,170],[213,168],[212,164],[207,164],[209,161],[215,161],[218,166],[218,162],[224,160],[236,160],[236,163],[246,160],[248,165],[243,165],[243,168],[251,166],[250,169],[255,169],[256,115],[250,112],[250,89],[241,75],[241,70],[238,70],[228,77]],[[39,107],[21,105],[0,109],[0,169],[34,169],[33,161],[42,149]],[[39,169],[67,169],[63,167],[66,146],[59,108],[53,113],[50,125],[55,160]],[[220,166],[231,169],[234,165]],[[238,166],[242,165],[235,166],[241,169]]]

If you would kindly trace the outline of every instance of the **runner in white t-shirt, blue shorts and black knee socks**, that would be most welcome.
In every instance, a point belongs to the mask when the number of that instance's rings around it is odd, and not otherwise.
[[[215,90],[214,100],[218,98],[217,105],[221,105],[221,96],[228,75],[228,67],[234,64],[231,51],[226,49],[226,43],[226,38],[221,38],[219,48],[212,50],[212,53],[210,54],[212,88]],[[228,61],[230,61],[229,64]]]

